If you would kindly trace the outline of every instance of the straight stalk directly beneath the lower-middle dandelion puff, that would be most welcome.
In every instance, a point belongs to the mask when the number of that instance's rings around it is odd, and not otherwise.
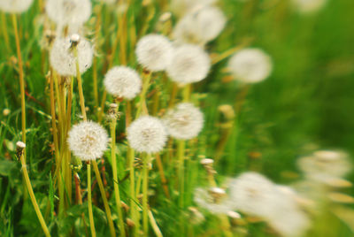
[[[148,208],[148,186],[149,186],[149,167],[151,154],[146,154],[142,158],[142,229],[145,235],[149,234],[149,208]]]

